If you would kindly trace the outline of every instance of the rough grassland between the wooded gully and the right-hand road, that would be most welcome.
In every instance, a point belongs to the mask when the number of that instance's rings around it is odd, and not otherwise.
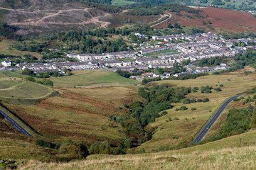
[[[157,118],[155,123],[151,123],[151,126],[158,127],[158,129],[153,135],[153,138],[142,144],[138,149],[144,148],[149,152],[151,149],[175,149],[183,145],[189,145],[225,100],[256,86],[256,73],[252,72],[252,74],[248,74],[247,76],[244,74],[245,70],[249,69],[252,68],[247,67],[238,72],[210,75],[184,81],[157,81],[156,83],[158,84],[168,83],[192,88],[197,86],[199,89],[201,86],[207,85],[213,86],[213,88],[219,87],[220,84],[224,86],[221,87],[222,91],[220,92],[212,90],[211,94],[201,94],[201,91],[198,90],[197,93],[191,93],[186,96],[186,98],[196,99],[210,98],[210,102],[190,104],[174,103],[174,108],[169,109],[167,111],[168,114]],[[230,79],[230,81],[228,81],[228,79]],[[176,108],[180,108],[181,106],[186,106],[188,110],[175,111]],[[196,108],[196,111],[191,111],[191,108]],[[228,113],[227,108],[224,113]],[[169,121],[169,118],[171,118],[172,121]],[[174,118],[178,118],[179,120],[174,120]],[[186,118],[188,120],[186,120]],[[168,120],[168,122],[166,120]],[[217,128],[211,129],[211,131],[215,132],[216,129]],[[176,138],[173,139],[173,137]]]

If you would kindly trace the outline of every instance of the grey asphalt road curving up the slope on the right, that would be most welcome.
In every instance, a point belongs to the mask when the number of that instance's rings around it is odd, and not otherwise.
[[[213,123],[215,123],[215,121],[218,119],[218,117],[220,116],[220,114],[224,111],[224,109],[228,106],[228,104],[233,101],[235,98],[238,98],[239,96],[242,96],[243,94],[240,94],[238,96],[234,96],[232,98],[229,98],[228,101],[226,101],[223,106],[221,106],[219,108],[219,110],[215,113],[215,115],[213,116],[213,118],[210,120],[210,122],[205,126],[205,128],[203,128],[203,130],[199,133],[199,135],[196,137],[195,140],[193,140],[193,142],[191,143],[191,145],[200,142],[201,140],[203,140],[203,137],[206,136],[206,133],[210,130],[210,127],[213,125]]]

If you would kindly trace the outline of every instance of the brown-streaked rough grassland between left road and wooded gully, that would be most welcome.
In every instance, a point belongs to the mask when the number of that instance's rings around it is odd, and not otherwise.
[[[124,103],[138,97],[132,86],[88,86],[56,88],[59,96],[33,106],[6,105],[37,132],[51,140],[108,140],[118,145],[124,140],[122,127],[108,120],[109,115],[124,114]],[[122,107],[122,110],[118,108]]]

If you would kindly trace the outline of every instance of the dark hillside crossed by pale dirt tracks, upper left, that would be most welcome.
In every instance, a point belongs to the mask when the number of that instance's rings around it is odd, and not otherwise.
[[[110,25],[109,13],[79,1],[0,1],[1,16],[18,34],[94,29]]]

